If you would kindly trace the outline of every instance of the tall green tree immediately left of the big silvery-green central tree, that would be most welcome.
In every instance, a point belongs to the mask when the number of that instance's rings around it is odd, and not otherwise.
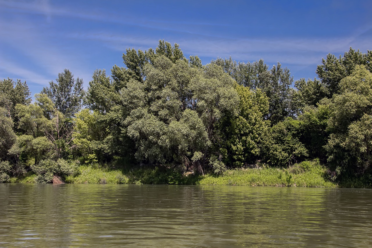
[[[122,99],[122,91],[131,79],[128,69],[114,66],[112,69],[113,80],[106,76],[105,70],[96,70],[93,80],[89,82],[86,104],[96,115],[97,127],[100,136],[94,139],[97,156],[101,159],[110,159],[113,155],[131,156],[134,144],[128,136],[122,133],[124,120],[128,115],[123,112],[126,103]],[[132,79],[133,80],[133,79]],[[138,81],[136,81],[138,82]],[[80,115],[81,117],[81,115]],[[78,130],[77,130],[78,131]],[[98,138],[98,137],[97,137]]]

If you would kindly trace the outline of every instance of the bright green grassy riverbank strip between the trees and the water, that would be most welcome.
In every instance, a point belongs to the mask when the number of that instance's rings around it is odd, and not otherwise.
[[[255,168],[229,169],[221,175],[182,174],[168,168],[137,168],[131,170],[110,169],[100,166],[79,166],[74,175],[65,179],[75,184],[179,184],[179,185],[236,185],[236,186],[279,186],[279,187],[359,187],[356,182],[339,185],[331,180],[327,168],[318,160],[305,161],[289,168],[272,168],[261,165]],[[35,174],[29,174],[13,182],[34,183]],[[359,182],[359,184],[358,184]]]

